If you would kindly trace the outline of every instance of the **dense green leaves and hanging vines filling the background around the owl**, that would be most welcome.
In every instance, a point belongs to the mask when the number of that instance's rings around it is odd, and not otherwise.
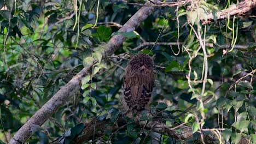
[[[28,141],[48,143],[62,136],[64,142],[65,136],[78,135],[86,127],[75,125],[96,117],[114,123],[121,113],[124,69],[132,55],[142,52],[152,56],[155,64],[152,112],[171,128],[181,123],[190,126],[194,139],[187,142],[200,139],[196,131],[203,129],[222,133],[218,137],[222,141],[238,143],[245,137],[256,142],[256,23],[255,15],[251,16],[255,10],[206,22],[207,14],[233,3],[238,2],[188,1],[179,7],[156,7],[136,33],[118,33],[144,1],[1,1],[0,139],[9,141],[93,58],[97,62],[82,87],[74,89]],[[102,57],[104,44],[115,34],[126,37],[123,47],[111,57]],[[95,139],[179,142],[127,121],[124,129],[105,130]]]

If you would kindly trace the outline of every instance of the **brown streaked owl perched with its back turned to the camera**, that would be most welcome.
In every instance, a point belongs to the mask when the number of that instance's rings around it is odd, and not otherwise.
[[[132,57],[125,70],[123,103],[126,109],[141,111],[148,106],[153,86],[153,61],[148,55],[139,53]]]

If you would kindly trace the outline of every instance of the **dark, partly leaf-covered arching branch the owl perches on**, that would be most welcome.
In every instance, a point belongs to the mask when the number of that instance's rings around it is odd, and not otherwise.
[[[127,116],[127,115],[126,115]],[[186,141],[193,138],[192,129],[186,125],[180,124],[176,127],[168,127],[164,118],[154,118],[153,121],[139,121],[139,117],[135,118],[136,127],[139,129],[149,130],[155,133],[167,135],[180,141]],[[119,116],[115,123],[111,123],[109,119],[103,121],[91,121],[85,124],[85,128],[82,133],[79,134],[73,143],[84,143],[86,141],[94,141],[104,135],[104,131],[108,130],[113,134],[118,130],[126,129],[127,121],[124,116]],[[182,131],[178,133],[176,129]],[[218,139],[214,135],[204,135],[207,143],[218,143]]]

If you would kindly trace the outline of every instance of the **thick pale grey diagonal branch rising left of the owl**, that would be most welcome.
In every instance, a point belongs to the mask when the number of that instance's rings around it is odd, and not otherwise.
[[[155,3],[158,0],[154,0]],[[150,2],[146,4],[150,5]],[[131,17],[125,25],[120,28],[119,32],[134,31],[154,10],[153,7],[142,7],[135,15]],[[103,57],[111,56],[124,42],[123,35],[114,35],[108,44],[107,49],[103,53]],[[14,135],[9,143],[25,143],[25,141],[40,127],[53,113],[63,105],[63,102],[72,95],[74,89],[80,87],[80,81],[85,75],[88,75],[92,64],[81,70],[75,75],[71,81],[63,86],[53,97],[47,101],[41,109],[39,109]]]

